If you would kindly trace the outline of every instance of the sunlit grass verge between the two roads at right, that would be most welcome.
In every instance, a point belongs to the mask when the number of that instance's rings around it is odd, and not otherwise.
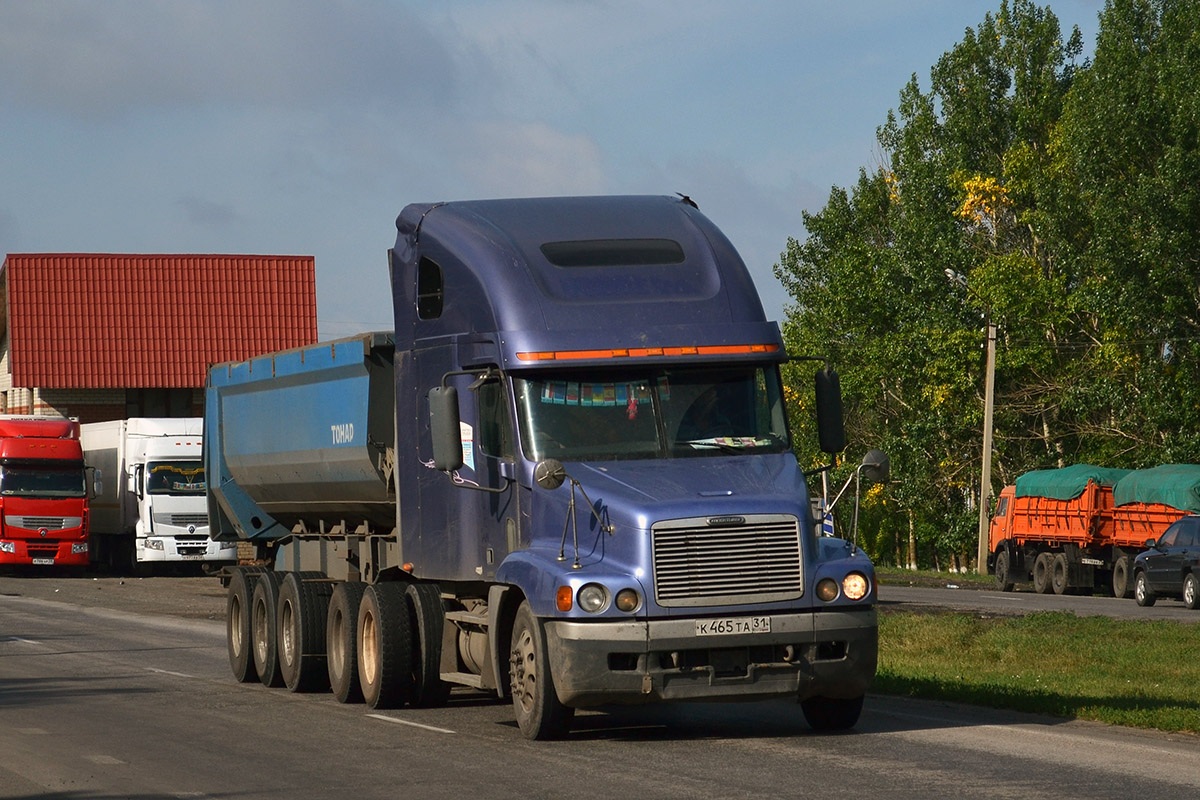
[[[874,692],[1200,733],[1200,625],[880,615]]]

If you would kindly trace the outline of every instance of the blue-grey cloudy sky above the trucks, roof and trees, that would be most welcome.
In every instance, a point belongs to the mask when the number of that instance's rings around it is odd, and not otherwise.
[[[1000,2],[0,0],[0,254],[312,255],[324,341],[391,327],[409,203],[678,192],[781,321],[802,212]]]

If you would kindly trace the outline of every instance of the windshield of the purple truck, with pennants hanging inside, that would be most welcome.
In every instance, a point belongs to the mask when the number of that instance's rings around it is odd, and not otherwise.
[[[769,366],[570,371],[514,378],[532,461],[684,458],[790,447]]]

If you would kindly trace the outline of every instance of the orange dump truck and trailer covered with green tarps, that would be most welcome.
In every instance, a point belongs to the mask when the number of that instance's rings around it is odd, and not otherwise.
[[[1012,591],[1133,590],[1133,559],[1188,513],[1200,513],[1200,465],[1123,470],[1076,464],[1026,473],[1000,493],[988,567]]]

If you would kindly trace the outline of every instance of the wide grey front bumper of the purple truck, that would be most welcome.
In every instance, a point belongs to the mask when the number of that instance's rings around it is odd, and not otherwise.
[[[875,678],[874,607],[772,614],[770,633],[696,636],[695,619],[546,620],[558,699],[610,703],[860,697]]]

